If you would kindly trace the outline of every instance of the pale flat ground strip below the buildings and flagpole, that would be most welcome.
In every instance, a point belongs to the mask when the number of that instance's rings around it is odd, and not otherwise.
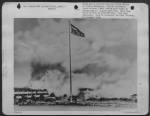
[[[120,110],[120,109],[135,109],[135,102],[119,102],[105,101],[101,103],[93,103],[92,105],[28,105],[15,106],[15,111],[102,111],[102,110]]]

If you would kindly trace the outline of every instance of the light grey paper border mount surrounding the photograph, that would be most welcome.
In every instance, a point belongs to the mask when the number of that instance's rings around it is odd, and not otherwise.
[[[2,6],[2,49],[3,49],[3,71],[6,73],[2,80],[2,111],[7,115],[52,115],[52,114],[90,114],[90,115],[135,115],[146,114],[148,112],[148,5],[144,3],[134,3],[135,17],[120,17],[120,18],[136,18],[138,22],[138,109],[133,111],[22,111],[14,112],[13,105],[13,82],[14,82],[14,18],[82,18],[82,3],[28,3],[24,2],[21,5],[63,5],[63,9],[48,11],[47,9],[26,8],[18,10],[17,2],[4,3]],[[74,10],[74,5],[79,6],[79,10]],[[133,3],[131,4],[133,5]],[[68,12],[69,11],[69,12]],[[106,18],[106,17],[105,17]],[[111,17],[107,17],[111,18]],[[114,17],[115,18],[115,17]],[[5,70],[6,68],[6,70]]]

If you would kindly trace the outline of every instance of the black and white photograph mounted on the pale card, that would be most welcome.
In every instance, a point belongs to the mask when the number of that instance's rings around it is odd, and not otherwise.
[[[14,18],[15,111],[136,109],[137,20]]]

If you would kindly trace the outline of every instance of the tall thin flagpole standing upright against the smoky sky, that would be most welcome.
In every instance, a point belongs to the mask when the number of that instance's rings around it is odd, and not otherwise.
[[[70,64],[70,102],[72,103],[72,74],[71,74],[71,39],[70,39],[70,20],[69,20],[69,64]]]

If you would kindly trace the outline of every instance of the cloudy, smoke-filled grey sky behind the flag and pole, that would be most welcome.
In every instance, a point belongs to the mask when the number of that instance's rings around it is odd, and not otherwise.
[[[85,34],[71,34],[73,94],[92,88],[101,97],[137,92],[137,22],[70,19]],[[14,85],[69,94],[68,19],[14,20]]]

